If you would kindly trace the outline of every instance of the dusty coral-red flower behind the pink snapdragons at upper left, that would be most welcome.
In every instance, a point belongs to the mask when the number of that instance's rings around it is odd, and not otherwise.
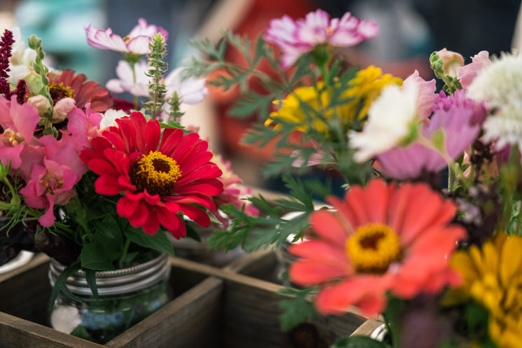
[[[90,103],[94,112],[104,112],[113,105],[106,88],[95,81],[87,81],[87,76],[76,75],[71,69],[66,69],[59,76],[52,78],[49,88],[55,103],[64,97],[71,97],[75,100],[76,107],[84,109],[85,105]]]

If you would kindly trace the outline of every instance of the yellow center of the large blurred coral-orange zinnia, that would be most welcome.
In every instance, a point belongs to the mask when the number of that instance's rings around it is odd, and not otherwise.
[[[346,252],[355,270],[383,273],[390,263],[400,261],[400,239],[388,225],[368,223],[360,226],[346,241]]]

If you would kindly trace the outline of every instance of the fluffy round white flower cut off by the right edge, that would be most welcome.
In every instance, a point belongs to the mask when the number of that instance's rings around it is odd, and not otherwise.
[[[502,54],[484,67],[467,90],[467,96],[485,101],[495,110],[484,122],[484,140],[496,146],[518,144],[522,149],[522,57]]]

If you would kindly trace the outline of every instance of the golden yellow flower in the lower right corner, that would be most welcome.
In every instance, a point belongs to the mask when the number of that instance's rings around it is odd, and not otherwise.
[[[499,233],[482,249],[458,251],[451,266],[463,275],[461,298],[472,298],[490,313],[488,331],[503,348],[522,347],[522,237]]]

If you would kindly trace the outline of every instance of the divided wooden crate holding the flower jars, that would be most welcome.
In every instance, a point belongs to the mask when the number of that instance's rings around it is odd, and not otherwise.
[[[247,254],[225,267],[169,260],[176,298],[104,345],[46,326],[46,256],[37,255],[19,270],[0,274],[0,348],[325,348],[367,322],[360,314],[348,313],[283,333],[278,319],[282,286],[273,277],[273,253]],[[299,345],[299,340],[307,345]]]

